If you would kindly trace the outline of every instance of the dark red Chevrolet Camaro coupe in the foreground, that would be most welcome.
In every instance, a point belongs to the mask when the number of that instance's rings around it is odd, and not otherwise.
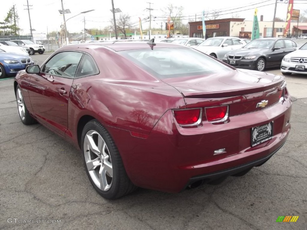
[[[179,192],[244,175],[290,132],[283,76],[154,40],[60,48],[20,71],[14,90],[21,121],[81,149],[108,199],[137,186]]]

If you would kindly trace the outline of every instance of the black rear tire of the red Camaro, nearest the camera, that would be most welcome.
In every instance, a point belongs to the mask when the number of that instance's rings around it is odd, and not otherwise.
[[[94,134],[91,134],[91,133],[94,133]],[[100,135],[100,137],[98,134]],[[105,152],[103,153],[101,150],[99,150],[98,154],[95,154],[91,150],[91,148],[89,148],[87,140],[85,140],[86,135],[92,135],[93,137],[92,140],[94,140],[95,145],[97,145],[95,146],[97,147],[97,149],[99,149],[98,140],[99,138],[102,138],[103,139],[102,143],[105,143],[106,145],[106,148],[104,148]],[[89,138],[91,138],[91,136]],[[106,199],[117,199],[119,197],[122,197],[136,190],[137,187],[134,186],[134,184],[128,178],[128,175],[122,163],[122,158],[114,143],[114,140],[112,139],[108,131],[103,127],[103,125],[99,123],[99,121],[91,120],[84,126],[83,131],[82,131],[82,136],[81,136],[81,149],[82,149],[82,157],[84,160],[85,171],[87,173],[87,176],[92,186],[95,188],[95,190],[98,192],[99,195],[101,195],[102,197]],[[102,155],[106,155],[106,157],[104,159],[101,159]],[[88,170],[88,166],[86,162],[93,161],[95,159],[96,159],[95,161],[96,163],[95,164],[93,163],[93,165],[95,166],[93,166],[91,170]],[[111,164],[112,177],[109,176],[110,175],[109,173],[107,174],[108,170],[107,170],[107,167],[104,166],[104,163],[106,165]],[[104,173],[105,177],[107,178],[106,181],[109,179],[108,186],[110,187],[108,188],[108,190],[100,189],[102,185],[99,182],[99,178],[100,178],[100,174],[103,174],[103,173],[100,173],[100,171],[103,169],[102,167],[106,168],[105,169],[106,171]],[[91,171],[91,174],[89,171]],[[92,177],[94,177],[99,187],[95,184]]]

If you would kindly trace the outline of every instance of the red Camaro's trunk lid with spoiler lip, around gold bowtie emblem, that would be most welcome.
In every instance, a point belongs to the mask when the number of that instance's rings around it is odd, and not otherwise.
[[[186,108],[229,105],[229,115],[257,111],[277,103],[285,87],[281,75],[251,70],[163,79],[184,97]],[[257,107],[263,100],[265,107]]]

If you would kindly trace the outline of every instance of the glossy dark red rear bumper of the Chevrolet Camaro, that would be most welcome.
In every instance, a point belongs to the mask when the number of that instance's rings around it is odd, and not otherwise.
[[[182,128],[171,110],[146,138],[109,127],[131,181],[144,188],[180,192],[197,180],[216,180],[269,159],[290,132],[291,99],[266,109],[230,117],[221,125]],[[251,147],[251,128],[274,121],[273,138]],[[215,154],[215,150],[225,152]]]

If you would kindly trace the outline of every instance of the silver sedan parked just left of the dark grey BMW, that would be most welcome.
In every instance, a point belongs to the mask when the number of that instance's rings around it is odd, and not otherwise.
[[[248,39],[240,39],[237,37],[212,37],[194,48],[222,60],[228,52],[241,49],[245,44],[247,44],[246,40],[248,41]]]

